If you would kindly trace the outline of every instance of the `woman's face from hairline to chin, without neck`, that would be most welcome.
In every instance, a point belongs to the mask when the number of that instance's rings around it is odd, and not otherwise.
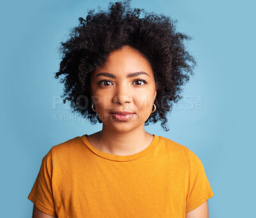
[[[95,111],[103,125],[117,132],[144,128],[154,108],[156,90],[150,63],[129,46],[111,52],[91,76]],[[132,114],[115,114],[124,111]]]

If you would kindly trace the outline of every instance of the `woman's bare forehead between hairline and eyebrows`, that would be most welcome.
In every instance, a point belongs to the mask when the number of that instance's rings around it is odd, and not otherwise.
[[[111,52],[106,62],[94,71],[94,76],[100,72],[115,74],[116,77],[123,77],[134,72],[147,72],[150,77],[153,77],[153,70],[147,59],[129,46]]]

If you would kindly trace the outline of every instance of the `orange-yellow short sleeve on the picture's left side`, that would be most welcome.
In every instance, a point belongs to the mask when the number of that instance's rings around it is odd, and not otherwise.
[[[42,159],[39,173],[36,177],[28,199],[45,214],[57,217],[52,196],[52,150]]]

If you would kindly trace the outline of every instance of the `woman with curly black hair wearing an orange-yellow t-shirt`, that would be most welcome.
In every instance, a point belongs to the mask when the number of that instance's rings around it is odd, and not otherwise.
[[[62,43],[64,103],[102,130],[52,146],[28,196],[33,217],[208,217],[214,194],[200,159],[144,128],[162,120],[167,130],[195,66],[189,37],[129,2],[91,10]]]

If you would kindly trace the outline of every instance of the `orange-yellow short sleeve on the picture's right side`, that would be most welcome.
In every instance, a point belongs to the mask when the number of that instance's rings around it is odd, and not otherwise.
[[[195,210],[202,205],[207,199],[214,196],[211,185],[205,174],[204,166],[201,160],[189,151],[190,174],[189,174],[189,190],[186,201],[186,213]]]

